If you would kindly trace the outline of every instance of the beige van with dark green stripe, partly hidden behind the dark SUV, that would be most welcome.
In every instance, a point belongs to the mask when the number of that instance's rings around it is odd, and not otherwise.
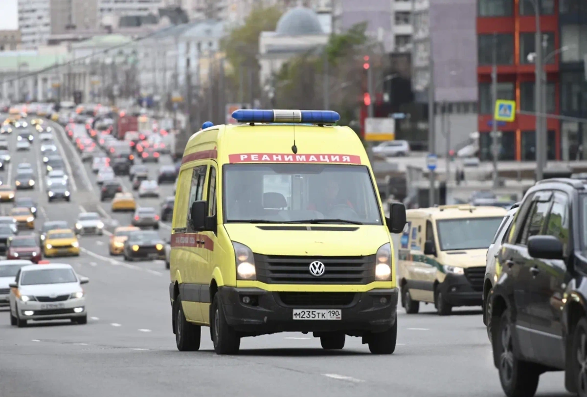
[[[443,205],[406,212],[397,274],[406,312],[418,313],[420,302],[433,303],[440,315],[481,306],[485,255],[507,211]]]

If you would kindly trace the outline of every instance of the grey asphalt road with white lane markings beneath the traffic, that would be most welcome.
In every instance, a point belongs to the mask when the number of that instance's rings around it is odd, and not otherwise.
[[[81,164],[62,128],[57,127],[56,135],[75,181],[72,202],[48,203],[41,183],[34,191],[19,191],[17,195],[31,195],[39,203],[37,227],[45,219],[73,225],[83,211],[98,211],[107,226],[112,220],[129,224],[130,214],[113,214],[109,202],[99,202],[89,164]],[[14,147],[15,136],[10,139]],[[19,161],[37,164],[43,177],[39,159],[35,142],[30,152],[15,152],[0,178],[12,181]],[[154,174],[158,165],[149,167]],[[173,193],[173,185],[162,191],[161,199]],[[156,208],[160,203],[139,202]],[[0,209],[10,207],[2,204]],[[164,236],[170,228],[163,226],[160,233]],[[480,308],[456,310],[450,317],[439,317],[430,305],[417,315],[400,309],[393,355],[372,355],[359,338],[350,337],[344,350],[324,351],[318,339],[288,333],[244,338],[239,355],[218,356],[207,328],[200,351],[178,352],[164,263],[110,257],[108,239],[82,237],[82,255],[59,260],[90,279],[87,325],[16,328],[9,325],[8,312],[0,312],[0,397],[503,395]],[[538,395],[566,395],[563,380],[560,372],[542,375]]]

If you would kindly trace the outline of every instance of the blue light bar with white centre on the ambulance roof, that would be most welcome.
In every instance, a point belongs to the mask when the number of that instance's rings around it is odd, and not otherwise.
[[[334,124],[340,115],[332,110],[240,109],[232,112],[232,118],[239,123]]]

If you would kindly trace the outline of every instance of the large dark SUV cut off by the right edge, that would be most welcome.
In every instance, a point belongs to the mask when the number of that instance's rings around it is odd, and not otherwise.
[[[587,395],[587,181],[545,179],[524,196],[496,259],[487,331],[508,396],[533,396],[565,371]]]

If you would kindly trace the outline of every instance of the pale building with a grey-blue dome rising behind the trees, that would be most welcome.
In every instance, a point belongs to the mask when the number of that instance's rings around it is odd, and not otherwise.
[[[326,18],[321,18],[326,16]],[[279,18],[275,32],[259,37],[260,79],[263,86],[273,73],[296,55],[319,49],[328,42],[330,15],[318,15],[305,7],[296,7]]]

